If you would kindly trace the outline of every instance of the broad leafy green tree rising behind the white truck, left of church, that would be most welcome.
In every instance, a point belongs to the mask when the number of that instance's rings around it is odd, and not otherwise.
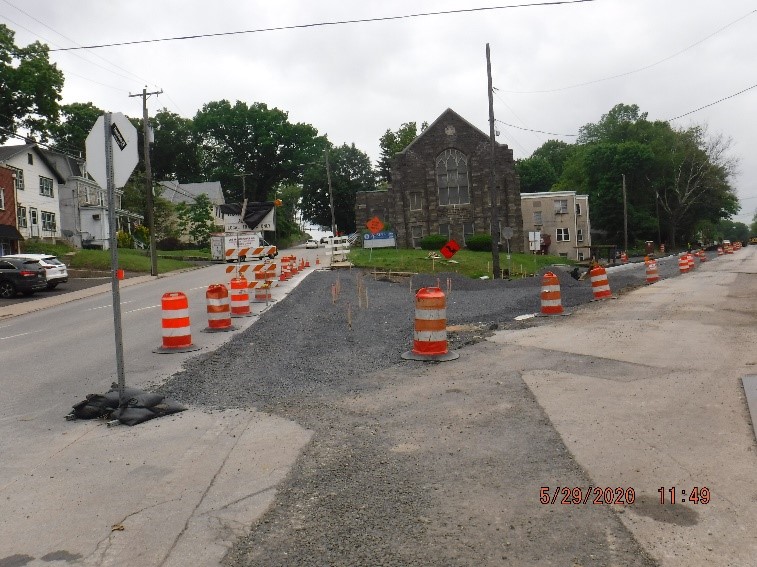
[[[286,112],[259,102],[210,102],[193,122],[204,149],[203,175],[221,182],[229,202],[265,201],[279,184],[300,182],[306,164],[318,160],[326,144],[313,126],[292,124]]]

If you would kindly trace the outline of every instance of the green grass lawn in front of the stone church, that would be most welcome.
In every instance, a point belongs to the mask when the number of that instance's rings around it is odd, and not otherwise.
[[[460,250],[452,261],[444,258],[431,260],[428,250],[406,250],[395,248],[350,250],[350,262],[356,267],[390,270],[395,272],[456,272],[471,278],[488,275],[492,277],[491,252],[471,252]],[[510,260],[506,253],[499,255],[500,269],[510,269],[511,277],[525,277],[537,273],[544,266],[552,264],[574,264],[575,262],[559,256],[535,256],[533,254],[511,254]]]

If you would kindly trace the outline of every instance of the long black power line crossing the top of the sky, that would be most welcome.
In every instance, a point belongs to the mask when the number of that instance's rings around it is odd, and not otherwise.
[[[464,14],[464,13],[472,13],[472,12],[507,10],[510,8],[533,8],[533,7],[539,7],[539,6],[559,6],[562,4],[583,4],[586,2],[595,2],[595,1],[597,0],[557,0],[554,2],[532,2],[528,4],[512,4],[508,6],[488,6],[488,7],[483,7],[483,8],[463,8],[459,10],[443,10],[443,11],[438,11],[438,12],[419,12],[416,14],[404,14],[400,16],[383,16],[383,17],[378,17],[378,18],[359,18],[359,19],[354,19],[354,20],[335,20],[331,22],[316,22],[312,24],[276,26],[272,28],[258,28],[258,29],[252,29],[252,30],[242,30],[242,31],[233,31],[233,32],[204,33],[204,34],[177,36],[177,37],[163,37],[163,38],[158,38],[158,39],[140,39],[140,40],[134,40],[134,41],[121,41],[121,42],[116,42],[116,43],[103,43],[103,44],[98,44],[98,45],[81,45],[78,47],[63,47],[59,49],[51,49],[50,51],[75,51],[79,49],[99,49],[101,47],[121,47],[125,45],[139,45],[139,44],[145,44],[145,43],[159,43],[159,42],[165,42],[165,41],[182,41],[182,40],[187,40],[187,39],[224,37],[224,36],[231,36],[231,35],[243,35],[243,34],[251,34],[251,33],[271,32],[271,31],[296,30],[296,29],[307,29],[307,28],[317,28],[317,27],[326,27],[326,26],[339,26],[339,25],[345,25],[345,24],[365,24],[365,23],[370,23],[370,22],[386,22],[386,21],[392,21],[392,20],[423,18],[427,16],[445,16],[449,14]]]

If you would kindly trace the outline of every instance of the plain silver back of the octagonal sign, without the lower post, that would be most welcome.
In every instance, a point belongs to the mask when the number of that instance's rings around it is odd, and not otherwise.
[[[105,115],[95,122],[85,143],[87,171],[100,187],[107,189],[108,175],[105,169],[106,139],[113,150],[113,183],[123,187],[139,161],[137,152],[137,129],[120,112],[110,114],[110,131],[105,135]]]

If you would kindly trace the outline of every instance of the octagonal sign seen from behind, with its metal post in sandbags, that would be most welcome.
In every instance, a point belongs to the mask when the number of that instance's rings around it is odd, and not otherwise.
[[[108,192],[113,327],[116,338],[116,372],[119,407],[126,405],[124,345],[121,331],[121,294],[118,287],[118,239],[116,235],[116,187],[123,187],[139,161],[137,129],[120,112],[107,112],[95,122],[86,140],[87,170]]]

